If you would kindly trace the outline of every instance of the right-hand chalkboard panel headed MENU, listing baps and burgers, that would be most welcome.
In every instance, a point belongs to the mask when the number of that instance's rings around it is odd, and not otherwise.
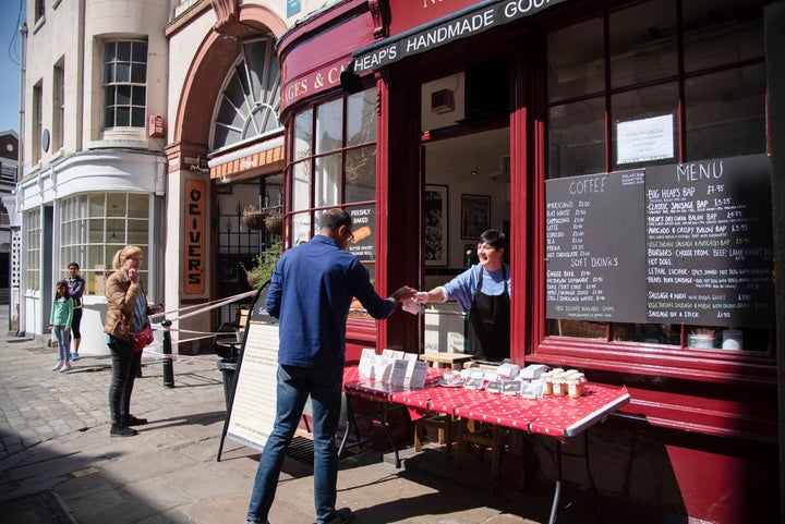
[[[647,168],[650,322],[773,322],[770,171],[765,155]]]

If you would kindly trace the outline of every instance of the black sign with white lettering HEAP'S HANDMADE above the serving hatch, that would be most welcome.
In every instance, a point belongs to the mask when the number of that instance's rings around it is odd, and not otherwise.
[[[536,14],[566,0],[503,0],[482,8],[463,9],[434,21],[427,27],[402,33],[352,53],[354,73],[362,74],[407,57],[470,38],[485,31]],[[389,41],[392,40],[392,41]]]

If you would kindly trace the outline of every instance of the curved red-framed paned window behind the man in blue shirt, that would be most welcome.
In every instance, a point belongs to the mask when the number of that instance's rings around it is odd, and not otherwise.
[[[290,247],[317,232],[323,209],[342,206],[354,221],[355,239],[348,251],[371,270],[376,230],[376,89],[298,113],[289,142],[293,153],[286,174]]]

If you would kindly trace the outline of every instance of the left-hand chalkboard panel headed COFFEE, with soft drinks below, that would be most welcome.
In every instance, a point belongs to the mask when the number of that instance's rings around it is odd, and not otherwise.
[[[645,321],[643,170],[545,183],[550,318]]]

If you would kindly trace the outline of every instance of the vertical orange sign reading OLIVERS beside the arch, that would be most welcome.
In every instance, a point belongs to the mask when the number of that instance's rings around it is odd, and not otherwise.
[[[207,184],[202,180],[185,181],[185,257],[183,292],[205,292],[205,206]]]

